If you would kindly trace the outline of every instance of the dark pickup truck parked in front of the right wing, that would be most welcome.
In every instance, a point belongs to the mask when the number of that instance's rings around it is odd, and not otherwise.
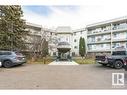
[[[111,56],[107,55],[96,55],[96,63],[104,66],[112,66],[116,69],[120,69],[127,66],[127,51],[119,50],[113,51]]]

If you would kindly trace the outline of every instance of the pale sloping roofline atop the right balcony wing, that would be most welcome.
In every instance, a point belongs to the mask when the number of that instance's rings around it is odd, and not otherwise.
[[[106,20],[106,21],[102,21],[102,22],[89,24],[89,25],[86,26],[86,28],[91,28],[91,27],[95,27],[95,26],[99,26],[99,25],[105,25],[105,24],[110,24],[110,23],[113,23],[113,22],[124,21],[124,20],[127,20],[127,16],[123,16],[123,17],[119,17],[119,18],[115,18],[115,19],[110,19],[110,20]]]

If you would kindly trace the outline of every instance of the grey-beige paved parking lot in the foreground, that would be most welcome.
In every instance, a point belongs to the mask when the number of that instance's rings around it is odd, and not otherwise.
[[[99,64],[24,64],[0,68],[0,89],[116,89],[112,86],[112,73],[123,72],[124,69]],[[120,89],[127,89],[126,81]]]

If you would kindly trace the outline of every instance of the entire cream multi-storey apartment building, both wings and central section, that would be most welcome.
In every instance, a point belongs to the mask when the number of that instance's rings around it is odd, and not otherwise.
[[[116,48],[127,48],[127,17],[90,24],[86,28],[78,30],[72,30],[66,26],[51,30],[32,23],[27,23],[27,25],[28,30],[31,31],[30,37],[34,35],[34,37],[41,39],[42,36],[46,36],[51,56],[56,55],[59,42],[68,42],[71,45],[71,54],[79,56],[80,37],[85,38],[88,53],[111,54]],[[28,44],[31,46],[32,43]]]

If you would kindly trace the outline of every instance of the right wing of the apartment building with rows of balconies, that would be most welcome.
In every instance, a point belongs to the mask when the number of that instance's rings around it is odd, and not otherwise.
[[[127,17],[86,26],[87,52],[112,53],[116,48],[127,48]]]

